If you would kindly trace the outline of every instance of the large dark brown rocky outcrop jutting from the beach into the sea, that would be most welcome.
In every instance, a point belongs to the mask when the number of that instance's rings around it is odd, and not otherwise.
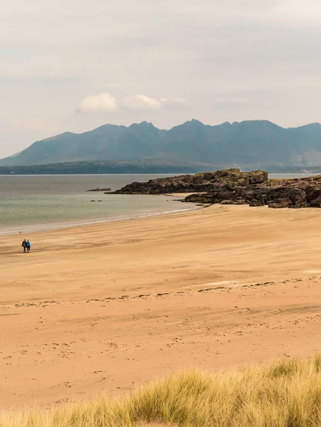
[[[268,205],[271,208],[321,207],[321,176],[269,180],[264,171],[227,169],[196,175],[134,182],[116,194],[193,193],[183,201],[197,204]]]

